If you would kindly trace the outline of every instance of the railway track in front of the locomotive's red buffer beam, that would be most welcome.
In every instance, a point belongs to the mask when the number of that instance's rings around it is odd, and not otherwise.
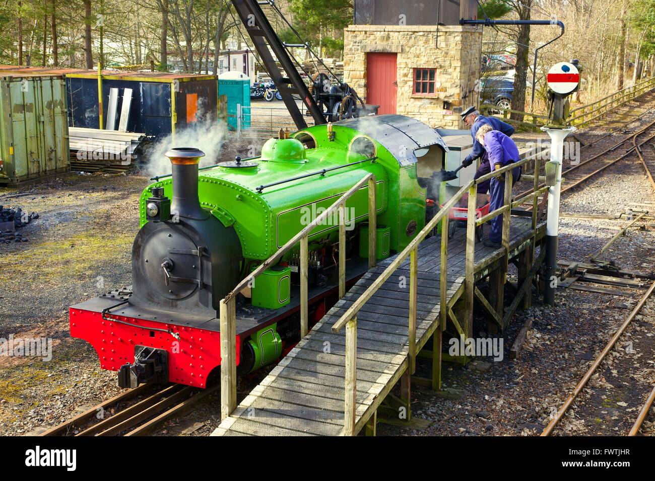
[[[144,436],[167,419],[179,416],[193,404],[215,393],[219,384],[207,389],[172,384],[143,384],[56,425],[41,436]],[[107,413],[113,412],[108,415]]]

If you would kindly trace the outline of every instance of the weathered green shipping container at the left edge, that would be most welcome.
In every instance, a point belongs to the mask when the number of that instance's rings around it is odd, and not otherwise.
[[[0,184],[69,169],[66,82],[61,75],[0,77]]]

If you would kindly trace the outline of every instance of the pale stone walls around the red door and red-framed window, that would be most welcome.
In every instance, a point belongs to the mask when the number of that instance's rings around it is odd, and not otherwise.
[[[366,56],[395,52],[398,91],[396,112],[432,127],[464,128],[462,107],[476,105],[480,78],[481,27],[349,26],[344,36],[344,80],[366,101]],[[415,94],[415,68],[436,69],[434,95]],[[451,111],[443,109],[449,101]]]

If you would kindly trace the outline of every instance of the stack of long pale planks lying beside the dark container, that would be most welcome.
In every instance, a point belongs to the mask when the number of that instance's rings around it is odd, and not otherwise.
[[[84,172],[123,172],[138,155],[145,134],[69,127],[71,169]]]

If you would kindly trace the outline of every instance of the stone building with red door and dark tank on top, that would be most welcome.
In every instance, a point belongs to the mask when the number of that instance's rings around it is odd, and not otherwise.
[[[482,28],[459,19],[476,14],[476,0],[356,0],[345,82],[381,114],[463,128],[458,114],[478,100]]]

